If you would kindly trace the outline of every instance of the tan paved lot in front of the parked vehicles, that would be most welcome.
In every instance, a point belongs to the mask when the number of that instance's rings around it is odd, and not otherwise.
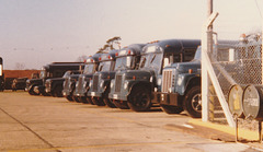
[[[0,92],[0,151],[260,151],[184,113],[168,115]]]

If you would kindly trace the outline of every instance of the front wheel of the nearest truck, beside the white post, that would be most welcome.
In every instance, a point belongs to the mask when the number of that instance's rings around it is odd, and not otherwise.
[[[184,109],[193,118],[202,117],[201,86],[192,87],[185,95]]]

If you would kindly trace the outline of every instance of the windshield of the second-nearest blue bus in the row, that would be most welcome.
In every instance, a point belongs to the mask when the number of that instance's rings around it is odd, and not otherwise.
[[[142,56],[140,60],[140,69],[151,68],[156,72],[159,71],[162,65],[162,54],[148,54]]]

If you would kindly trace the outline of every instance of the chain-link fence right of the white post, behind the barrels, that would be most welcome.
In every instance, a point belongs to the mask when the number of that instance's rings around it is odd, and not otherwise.
[[[242,87],[249,84],[263,85],[261,8],[258,1],[231,1],[225,8],[215,2],[214,12],[219,12],[213,27],[217,36],[213,36],[215,45],[208,56],[228,102],[233,84]],[[208,90],[208,119],[227,124],[211,83]],[[244,119],[240,124],[241,127],[256,129],[256,124],[251,120]]]

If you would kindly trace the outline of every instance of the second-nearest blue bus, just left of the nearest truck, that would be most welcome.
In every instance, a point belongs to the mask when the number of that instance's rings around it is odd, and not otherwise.
[[[158,103],[156,92],[161,91],[162,69],[174,62],[191,61],[198,45],[198,39],[168,39],[148,44],[144,47],[138,70],[116,73],[108,98],[119,108],[148,110],[152,103]]]

